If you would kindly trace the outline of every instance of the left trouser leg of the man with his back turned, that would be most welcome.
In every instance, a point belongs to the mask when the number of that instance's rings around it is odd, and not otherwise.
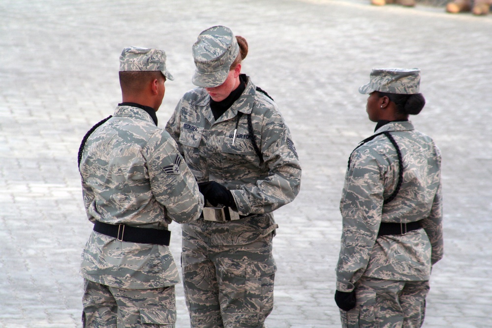
[[[83,328],[116,328],[118,306],[108,286],[84,280]]]

